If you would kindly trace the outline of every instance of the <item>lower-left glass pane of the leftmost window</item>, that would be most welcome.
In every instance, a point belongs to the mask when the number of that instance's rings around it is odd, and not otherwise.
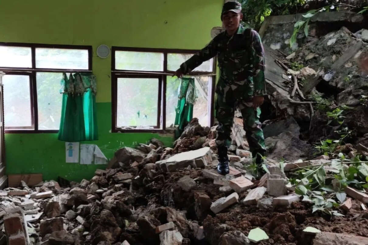
[[[31,127],[29,76],[5,75],[3,84],[5,127]]]

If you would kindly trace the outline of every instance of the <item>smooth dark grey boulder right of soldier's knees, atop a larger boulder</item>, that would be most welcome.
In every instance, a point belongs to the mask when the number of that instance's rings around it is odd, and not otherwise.
[[[263,127],[263,136],[265,138],[277,136],[281,133],[290,132],[293,137],[299,138],[300,127],[296,120],[290,116],[287,119],[283,119]]]

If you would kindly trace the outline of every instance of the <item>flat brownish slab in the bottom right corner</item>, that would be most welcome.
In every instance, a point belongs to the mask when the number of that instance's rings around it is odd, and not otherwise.
[[[317,233],[313,239],[313,245],[366,245],[368,244],[367,237],[348,235],[343,233],[321,232]]]

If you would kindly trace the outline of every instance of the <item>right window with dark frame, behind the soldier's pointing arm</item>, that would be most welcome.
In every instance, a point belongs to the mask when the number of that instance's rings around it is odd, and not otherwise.
[[[172,77],[197,50],[112,47],[112,131],[157,131],[174,126],[180,80]],[[195,76],[193,117],[210,126],[215,61],[203,62]]]

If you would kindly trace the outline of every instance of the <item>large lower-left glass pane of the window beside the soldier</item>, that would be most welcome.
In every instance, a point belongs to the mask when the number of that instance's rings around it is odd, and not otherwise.
[[[117,127],[157,125],[158,84],[157,78],[117,79]]]

